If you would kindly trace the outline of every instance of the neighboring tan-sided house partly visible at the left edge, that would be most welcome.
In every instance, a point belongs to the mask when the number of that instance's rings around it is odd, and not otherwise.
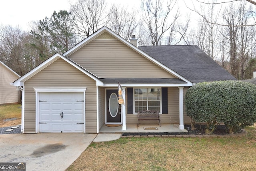
[[[10,85],[18,78],[20,76],[16,72],[0,61],[0,105],[20,102],[20,92]]]

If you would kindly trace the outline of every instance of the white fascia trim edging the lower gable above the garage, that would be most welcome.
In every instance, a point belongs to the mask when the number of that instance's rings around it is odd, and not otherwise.
[[[93,74],[91,74],[87,70],[83,70],[82,68],[78,67],[76,64],[74,64],[73,62],[71,62],[70,60],[65,58],[64,56],[57,53],[54,56],[50,57],[48,60],[44,61],[42,64],[40,64],[36,68],[34,68],[33,70],[31,70],[30,72],[28,72],[27,74],[25,74],[24,76],[22,76],[21,78],[19,78],[18,80],[16,80],[13,83],[13,85],[14,86],[23,86],[24,82],[26,80],[28,80],[29,78],[31,78],[32,76],[34,76],[35,74],[37,74],[38,72],[40,72],[41,70],[43,70],[44,68],[46,68],[47,66],[52,64],[54,61],[58,60],[59,58],[62,58],[64,61],[68,62],[70,65],[74,66],[75,68],[77,68],[78,70],[80,70],[81,72],[83,72],[84,74],[86,74],[87,76],[92,78],[93,80],[95,80],[98,85],[103,84],[100,80],[98,80],[96,78],[96,76],[94,76]]]

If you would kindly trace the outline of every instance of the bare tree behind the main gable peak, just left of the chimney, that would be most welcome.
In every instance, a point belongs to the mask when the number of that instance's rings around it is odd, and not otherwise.
[[[120,8],[119,6],[113,5],[108,14],[107,26],[116,32],[116,34],[128,40],[138,26],[136,16],[134,9],[128,11],[127,7]]]

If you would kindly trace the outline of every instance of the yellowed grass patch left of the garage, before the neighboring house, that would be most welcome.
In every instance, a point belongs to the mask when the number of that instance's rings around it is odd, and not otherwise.
[[[0,127],[21,124],[21,105],[0,105]]]

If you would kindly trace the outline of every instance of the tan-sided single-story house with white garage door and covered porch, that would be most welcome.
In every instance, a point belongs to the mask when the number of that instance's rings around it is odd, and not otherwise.
[[[104,124],[137,123],[159,111],[161,123],[190,123],[184,95],[193,84],[235,80],[197,46],[142,46],[107,27],[55,54],[14,82],[22,86],[22,132],[98,133]],[[118,82],[124,105],[118,105]]]

